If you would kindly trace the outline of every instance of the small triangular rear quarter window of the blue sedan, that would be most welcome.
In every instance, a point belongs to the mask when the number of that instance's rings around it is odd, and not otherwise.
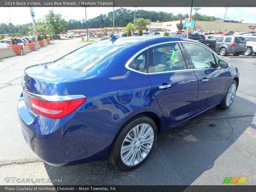
[[[148,68],[147,62],[148,50],[145,50],[132,60],[132,62],[129,64],[129,67],[134,70],[146,73]]]

